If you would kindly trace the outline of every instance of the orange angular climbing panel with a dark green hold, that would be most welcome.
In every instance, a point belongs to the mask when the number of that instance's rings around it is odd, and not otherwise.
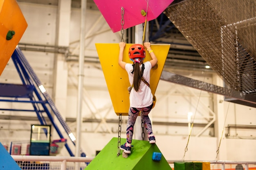
[[[16,0],[0,0],[0,75],[27,29]]]

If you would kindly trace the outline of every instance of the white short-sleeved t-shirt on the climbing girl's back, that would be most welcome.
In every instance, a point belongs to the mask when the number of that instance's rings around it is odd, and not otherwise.
[[[149,83],[150,82],[150,70],[152,68],[150,62],[144,63],[145,69],[143,72],[144,79]],[[140,69],[142,64],[140,65]],[[132,64],[127,63],[125,65],[125,69],[128,73],[129,82],[132,85],[133,82],[133,74],[131,73],[133,70]],[[151,89],[141,80],[139,91],[135,91],[134,88],[130,91],[130,107],[134,108],[144,108],[150,106],[153,102],[153,95],[151,93]]]

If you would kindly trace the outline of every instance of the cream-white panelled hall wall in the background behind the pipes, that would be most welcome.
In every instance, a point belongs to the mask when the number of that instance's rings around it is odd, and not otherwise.
[[[56,30],[56,16],[57,7],[50,5],[38,5],[19,3],[23,14],[28,22],[28,28],[20,42],[36,43],[36,44],[52,44],[55,42]],[[86,14],[86,30],[89,31],[93,24],[101,16],[99,11],[87,10]],[[70,28],[70,49],[74,54],[78,54],[76,49],[79,40],[79,24],[80,11],[79,9],[72,9]],[[107,30],[108,24],[104,19],[101,19],[99,24],[88,35],[96,34],[97,31]],[[97,56],[95,43],[118,43],[120,40],[119,33],[112,33],[106,31],[102,34],[92,36],[85,40],[85,55]],[[53,81],[53,67],[54,54],[23,51],[27,60],[33,67],[40,81],[43,82],[47,92],[52,95],[54,81]],[[77,103],[77,73],[78,63],[67,63],[68,68],[68,91],[67,91],[67,115],[66,117],[76,118],[76,103]],[[178,71],[171,70],[175,73],[198,79],[204,82],[213,83],[211,73],[204,74],[196,71]],[[100,64],[85,64],[85,78],[83,91],[83,114],[82,117],[88,118],[106,118],[118,120],[115,114],[106,82],[101,71]],[[0,77],[0,83],[17,83],[20,84],[19,77],[15,68],[13,68],[12,61],[9,62]],[[157,146],[162,151],[166,159],[182,159],[184,150],[188,141],[189,126],[169,126],[166,124],[154,124],[155,122],[162,123],[188,123],[187,113],[193,112],[192,120],[195,123],[207,124],[213,115],[213,94],[188,88],[178,84],[172,84],[160,80],[157,91],[157,105],[150,113],[153,121],[153,131],[156,136]],[[217,101],[218,102],[218,101]],[[223,102],[224,110],[222,110],[223,117],[226,117],[225,128],[228,124],[239,125],[256,125],[256,109],[238,104]],[[24,104],[16,104],[9,102],[0,102],[1,108],[30,108]],[[12,112],[1,111],[0,115],[4,116],[28,116],[35,117],[32,112]],[[125,122],[127,117],[123,117]],[[7,144],[11,141],[29,140],[30,125],[39,124],[38,121],[25,120],[4,120],[0,119],[0,142]],[[76,133],[76,124],[68,122],[68,125],[74,134]],[[99,126],[99,128],[97,128]],[[216,126],[216,125],[215,125]],[[60,126],[58,126],[60,127]],[[140,128],[140,127],[137,127]],[[125,138],[126,124],[122,124],[122,138]],[[185,154],[186,160],[214,160],[216,158],[216,151],[220,143],[220,136],[214,134],[213,128],[207,128],[202,132],[200,137],[195,137],[203,130],[203,127],[193,127],[191,138],[188,144],[188,151]],[[89,157],[94,157],[96,150],[101,150],[112,137],[118,135],[118,122],[99,124],[99,123],[83,123],[81,129],[81,147]],[[65,131],[61,128],[61,132]],[[225,155],[230,161],[255,161],[255,130],[237,130],[231,131],[231,137],[225,137],[226,130],[224,130],[222,142],[220,144],[220,153]],[[75,134],[76,135],[76,134]],[[5,137],[6,136],[6,137]],[[65,137],[67,135],[65,134]],[[67,137],[68,138],[68,137]],[[52,139],[58,139],[58,136],[53,136]],[[72,150],[74,146],[70,144]],[[225,153],[222,148],[225,147]],[[65,148],[62,150],[60,156],[68,156]],[[218,158],[222,159],[222,157]]]

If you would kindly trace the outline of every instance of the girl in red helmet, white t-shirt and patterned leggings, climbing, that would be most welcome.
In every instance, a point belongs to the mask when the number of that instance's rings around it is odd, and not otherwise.
[[[149,143],[155,143],[151,121],[148,117],[148,114],[153,108],[153,95],[148,82],[150,82],[150,70],[157,64],[157,57],[150,48],[150,42],[145,42],[144,46],[141,44],[134,44],[130,46],[128,54],[133,64],[126,63],[123,61],[125,46],[125,42],[119,42],[120,49],[118,63],[121,68],[124,68],[127,71],[132,88],[130,90],[130,108],[126,126],[126,143],[121,145],[120,149],[124,150],[125,153],[131,153],[133,127],[139,113],[144,122],[144,127],[147,130]],[[143,63],[143,60],[146,57],[146,50],[144,47],[148,50],[152,59],[145,63]]]

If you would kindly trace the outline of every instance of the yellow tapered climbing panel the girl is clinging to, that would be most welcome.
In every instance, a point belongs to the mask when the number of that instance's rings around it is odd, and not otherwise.
[[[119,115],[119,113],[128,115],[130,102],[127,88],[130,86],[130,82],[126,70],[121,68],[118,64],[119,44],[96,43],[95,45],[115,113],[117,115]],[[127,63],[132,63],[128,57],[128,50],[131,45],[132,44],[126,44],[124,49],[124,62]],[[158,60],[157,68],[151,69],[150,72],[149,84],[153,95],[155,95],[169,48],[170,44],[151,44],[151,49],[154,51]],[[146,51],[144,62],[149,60],[151,60],[151,57],[148,51]]]

